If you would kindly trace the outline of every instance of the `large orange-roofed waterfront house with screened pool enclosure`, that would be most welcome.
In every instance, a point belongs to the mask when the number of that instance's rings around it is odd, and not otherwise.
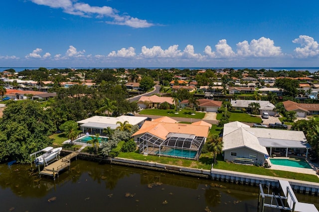
[[[209,124],[204,121],[193,124],[172,122],[168,117],[145,121],[132,135],[140,146],[140,153],[198,160],[209,133]]]

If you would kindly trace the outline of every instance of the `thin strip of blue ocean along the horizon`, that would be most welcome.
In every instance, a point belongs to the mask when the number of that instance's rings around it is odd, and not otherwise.
[[[39,67],[0,67],[0,72],[3,72],[7,69],[14,69],[16,72],[24,71],[25,69],[28,70],[34,70],[38,69]],[[170,68],[176,68],[176,69],[191,69],[191,70],[197,70],[197,69],[225,69],[225,68],[233,68],[235,70],[238,69],[266,69],[266,70],[273,70],[273,71],[291,71],[291,70],[296,70],[296,71],[309,71],[310,73],[318,72],[319,67],[48,67],[46,69],[105,69],[105,68],[110,68],[110,69],[118,69],[118,68],[125,68],[125,69],[135,69],[135,68],[147,68],[147,69],[170,69]]]

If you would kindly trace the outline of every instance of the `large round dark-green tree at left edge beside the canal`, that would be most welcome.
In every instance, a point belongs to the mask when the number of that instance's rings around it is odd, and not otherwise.
[[[53,116],[36,102],[8,103],[0,119],[0,162],[29,162],[30,153],[52,144],[55,131]]]

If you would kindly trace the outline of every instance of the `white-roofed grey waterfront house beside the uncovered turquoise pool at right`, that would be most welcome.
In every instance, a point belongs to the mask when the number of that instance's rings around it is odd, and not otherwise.
[[[246,158],[264,164],[270,155],[307,157],[310,148],[303,131],[254,128],[239,121],[224,124],[222,151],[227,161]]]

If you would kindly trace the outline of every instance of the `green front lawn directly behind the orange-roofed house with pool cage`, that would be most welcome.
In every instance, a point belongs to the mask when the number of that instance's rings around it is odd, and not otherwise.
[[[178,114],[175,114],[175,112],[175,109],[143,109],[142,111],[140,111],[140,114],[199,119],[202,119],[205,116],[204,112],[195,112],[195,115],[191,115],[193,111],[188,109],[182,109],[181,111],[177,111]]]

